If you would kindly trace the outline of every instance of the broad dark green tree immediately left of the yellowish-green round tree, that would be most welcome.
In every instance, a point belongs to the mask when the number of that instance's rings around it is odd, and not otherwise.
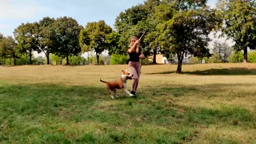
[[[79,46],[79,33],[83,28],[78,22],[71,17],[57,18],[53,25],[56,34],[56,46],[53,47],[53,53],[60,57],[66,57],[66,64],[69,64],[69,56],[78,56],[81,52]]]

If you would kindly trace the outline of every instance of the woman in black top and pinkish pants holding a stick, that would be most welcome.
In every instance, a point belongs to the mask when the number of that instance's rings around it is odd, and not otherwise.
[[[132,36],[130,38],[130,45],[129,45],[129,71],[131,74],[133,74],[133,79],[131,83],[131,94],[133,94],[133,98],[136,98],[136,90],[138,88],[138,81],[139,76],[141,74],[141,64],[139,64],[139,58],[143,59],[144,54],[139,49],[139,42],[141,40],[138,40],[137,37]]]

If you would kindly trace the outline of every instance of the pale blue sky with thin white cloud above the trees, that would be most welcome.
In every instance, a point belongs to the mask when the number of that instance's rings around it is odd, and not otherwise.
[[[214,5],[217,0],[209,0]],[[0,0],[0,33],[13,36],[21,23],[35,22],[43,17],[69,16],[79,25],[104,20],[114,28],[115,18],[121,11],[144,0]]]

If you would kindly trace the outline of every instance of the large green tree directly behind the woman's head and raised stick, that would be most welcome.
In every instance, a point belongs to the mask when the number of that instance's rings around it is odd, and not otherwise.
[[[148,32],[141,39],[140,46],[146,57],[154,56],[153,63],[156,63],[156,54],[160,52],[160,44],[156,40],[158,21],[156,21],[154,13],[156,6],[160,3],[159,0],[145,1],[143,4],[126,9],[115,19],[115,28],[120,35],[118,44],[122,53],[127,53],[127,46],[132,35],[139,38],[148,29]]]

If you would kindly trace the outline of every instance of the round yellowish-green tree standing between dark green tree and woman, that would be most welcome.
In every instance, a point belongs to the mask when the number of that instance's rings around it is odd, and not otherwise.
[[[80,45],[83,46],[83,51],[94,50],[96,52],[97,64],[100,54],[107,50],[110,46],[108,35],[112,33],[112,28],[103,20],[98,22],[88,22],[80,32]]]

